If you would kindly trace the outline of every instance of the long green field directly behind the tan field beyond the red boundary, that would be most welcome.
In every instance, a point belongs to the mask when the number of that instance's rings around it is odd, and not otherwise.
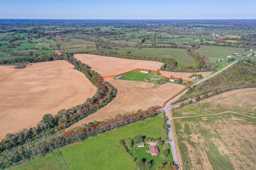
[[[172,58],[178,62],[178,66],[194,66],[195,60],[188,55],[186,49],[168,49],[168,48],[120,48],[118,50],[99,48],[102,51],[117,51],[121,54],[126,54],[128,50],[132,51],[131,55],[146,56],[146,57],[159,57],[159,58]]]

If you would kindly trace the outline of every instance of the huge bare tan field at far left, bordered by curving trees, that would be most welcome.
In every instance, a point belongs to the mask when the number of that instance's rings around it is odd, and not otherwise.
[[[0,66],[0,139],[94,96],[97,88],[73,68],[67,61]]]

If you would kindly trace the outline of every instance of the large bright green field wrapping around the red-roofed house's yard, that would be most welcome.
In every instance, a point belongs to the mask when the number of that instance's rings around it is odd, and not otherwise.
[[[83,169],[86,166],[90,170],[137,170],[135,162],[119,146],[119,140],[132,138],[135,135],[154,139],[161,137],[164,139],[162,119],[163,115],[160,114],[154,118],[126,125],[102,135],[86,139],[81,143],[64,147],[60,149],[60,153],[68,169]],[[156,164],[153,166],[155,167]]]

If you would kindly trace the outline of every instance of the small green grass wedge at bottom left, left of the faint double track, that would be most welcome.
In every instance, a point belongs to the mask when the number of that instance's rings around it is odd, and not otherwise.
[[[9,168],[8,170],[58,170],[52,155],[34,159],[24,164]]]

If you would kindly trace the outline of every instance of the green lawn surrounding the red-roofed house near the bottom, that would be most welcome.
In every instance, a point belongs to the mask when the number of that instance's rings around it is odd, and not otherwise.
[[[163,163],[165,160],[166,160],[166,162],[172,162],[173,161],[172,150],[171,150],[170,144],[166,143],[163,146],[161,146],[161,145],[156,145],[156,146],[159,149],[159,155],[158,156],[151,156],[150,153],[147,153],[147,150],[150,147],[149,144],[146,144],[145,147],[133,147],[129,150],[129,152],[131,153],[133,159],[146,158],[146,160],[149,160],[149,161],[154,160],[154,164],[152,166],[152,170],[154,170],[158,164]],[[170,150],[170,154],[168,154],[167,158],[164,158],[164,156],[162,155],[162,152],[161,152],[162,149],[169,149]],[[134,155],[134,151],[135,151],[135,155]]]

